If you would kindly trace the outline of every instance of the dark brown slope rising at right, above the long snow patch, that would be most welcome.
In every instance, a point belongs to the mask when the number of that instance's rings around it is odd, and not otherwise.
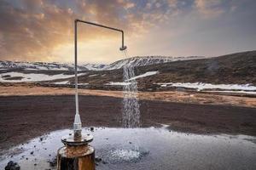
[[[211,59],[177,61],[137,68],[137,74],[159,71],[147,82],[208,82],[256,85],[256,51],[228,54]]]

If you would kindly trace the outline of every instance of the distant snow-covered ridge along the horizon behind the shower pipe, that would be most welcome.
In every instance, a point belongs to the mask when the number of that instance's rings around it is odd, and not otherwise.
[[[163,57],[163,56],[147,56],[147,57],[132,57],[129,59],[120,59],[113,62],[110,65],[100,64],[86,64],[79,65],[79,71],[105,71],[120,69],[124,65],[144,66],[155,65],[166,62],[172,62],[177,60],[188,59],[203,59],[204,57],[192,56],[192,57]],[[73,64],[61,64],[61,63],[44,63],[44,62],[14,62],[14,61],[0,61],[0,69],[26,69],[35,71],[73,71]]]

